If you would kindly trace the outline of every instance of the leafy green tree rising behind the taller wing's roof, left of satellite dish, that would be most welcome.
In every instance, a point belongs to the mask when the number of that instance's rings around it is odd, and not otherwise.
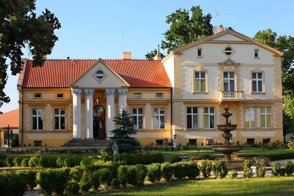
[[[180,8],[166,16],[166,23],[171,26],[163,33],[165,41],[161,41],[161,48],[167,49],[167,53],[173,48],[213,34],[210,24],[211,14],[203,16],[200,6],[193,6],[191,12],[192,16],[190,17],[189,10]]]

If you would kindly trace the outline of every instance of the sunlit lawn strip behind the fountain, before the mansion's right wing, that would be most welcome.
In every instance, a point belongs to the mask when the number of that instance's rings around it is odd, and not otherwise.
[[[198,150],[200,150],[198,152]],[[151,153],[156,153],[158,151],[152,151]],[[174,150],[174,151],[160,151],[163,153],[165,161],[171,161],[171,158],[173,156],[201,156],[201,155],[211,155],[214,157],[223,157],[222,153],[215,152],[211,149],[211,147],[198,147],[197,150]],[[294,153],[294,150],[290,150],[289,148],[284,148],[283,150],[280,150],[278,148],[274,148],[273,150],[260,150],[260,148],[249,148],[243,149],[237,153],[236,155],[239,155],[240,157],[244,155],[250,155],[250,154],[270,154],[270,153],[287,153],[292,152]]]

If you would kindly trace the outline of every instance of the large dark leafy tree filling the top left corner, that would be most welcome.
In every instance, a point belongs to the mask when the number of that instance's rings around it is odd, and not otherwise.
[[[48,9],[37,17],[35,1],[0,1],[0,108],[10,101],[3,91],[8,78],[6,59],[11,60],[11,74],[18,74],[23,68],[21,49],[27,45],[34,60],[32,66],[42,66],[43,56],[51,53],[58,40],[54,30],[61,24]]]

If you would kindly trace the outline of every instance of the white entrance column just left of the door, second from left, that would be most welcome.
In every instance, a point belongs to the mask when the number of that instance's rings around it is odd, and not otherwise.
[[[85,93],[85,140],[93,140],[93,95],[94,89],[84,89]]]

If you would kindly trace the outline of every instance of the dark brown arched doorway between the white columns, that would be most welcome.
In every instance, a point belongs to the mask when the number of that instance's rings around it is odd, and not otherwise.
[[[105,140],[105,109],[101,105],[93,108],[93,138]]]

